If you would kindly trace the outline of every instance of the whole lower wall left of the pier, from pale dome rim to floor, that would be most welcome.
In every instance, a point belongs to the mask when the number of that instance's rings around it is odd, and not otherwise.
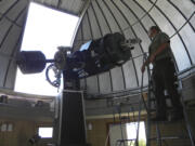
[[[52,125],[54,111],[50,103],[53,98],[9,91],[0,91],[0,95],[8,96],[6,102],[0,103],[0,146],[30,146],[28,140],[38,132],[38,127]],[[37,106],[37,101],[43,101],[43,105]],[[3,124],[12,124],[13,130],[2,130]],[[41,140],[39,146],[50,141]]]

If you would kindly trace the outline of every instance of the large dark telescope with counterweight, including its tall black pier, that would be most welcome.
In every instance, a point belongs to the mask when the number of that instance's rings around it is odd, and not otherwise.
[[[83,92],[79,90],[79,80],[121,66],[131,58],[131,50],[140,42],[139,38],[127,40],[123,35],[115,32],[90,40],[73,53],[69,47],[58,47],[52,59],[47,59],[40,51],[20,53],[17,65],[23,74],[41,72],[50,64],[46,76],[55,88],[61,85],[63,76],[64,85],[58,96],[61,104],[57,106],[53,134],[57,146],[88,146]],[[53,72],[54,79],[50,72]]]

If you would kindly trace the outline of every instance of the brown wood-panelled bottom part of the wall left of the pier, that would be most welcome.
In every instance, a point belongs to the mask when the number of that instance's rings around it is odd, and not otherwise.
[[[12,123],[13,131],[0,131],[0,146],[30,146],[28,140],[37,132],[39,125],[52,125],[52,122],[35,122],[27,120],[3,119],[2,123]],[[40,142],[39,146],[44,146],[46,142]]]

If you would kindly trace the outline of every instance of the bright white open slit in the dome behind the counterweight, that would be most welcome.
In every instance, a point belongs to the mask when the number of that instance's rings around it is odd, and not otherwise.
[[[53,58],[56,48],[70,47],[78,17],[31,2],[22,42],[23,51],[42,51]],[[46,70],[44,70],[46,71]],[[57,89],[46,80],[46,72],[23,75],[17,69],[15,91],[56,95]]]

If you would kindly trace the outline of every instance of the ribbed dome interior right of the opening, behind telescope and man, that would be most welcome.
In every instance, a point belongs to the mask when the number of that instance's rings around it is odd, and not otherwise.
[[[193,65],[195,55],[192,48],[195,44],[190,36],[194,36],[194,10],[195,6],[191,0],[180,2],[176,0],[91,0],[78,29],[82,32],[82,37],[78,34],[74,44],[84,43],[90,39],[98,39],[116,31],[125,35],[126,39],[141,38],[142,43],[135,44],[134,50],[131,51],[135,58],[131,58],[121,67],[90,77],[90,80],[93,79],[98,85],[91,87],[87,78],[84,82],[87,91],[90,94],[93,91],[95,91],[94,94],[104,94],[140,88],[142,80],[140,68],[143,64],[143,56],[140,55],[148,52],[151,39],[147,30],[153,25],[159,26],[169,35],[178,70]],[[74,51],[76,50],[79,50],[78,45],[74,48]],[[145,72],[143,85],[147,83],[148,77]]]

